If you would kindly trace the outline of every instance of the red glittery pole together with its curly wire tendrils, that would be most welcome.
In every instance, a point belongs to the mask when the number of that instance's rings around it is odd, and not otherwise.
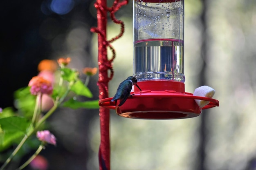
[[[112,69],[112,62],[115,59],[115,49],[110,43],[117,40],[124,34],[124,22],[115,18],[115,12],[123,5],[126,5],[128,0],[119,2],[115,0],[112,7],[107,7],[106,0],[97,0],[94,7],[97,9],[97,28],[92,28],[91,31],[98,33],[98,65],[99,65],[99,100],[108,98],[108,82],[112,79],[114,71]],[[110,18],[116,24],[121,25],[120,33],[107,40],[107,14],[110,13]],[[107,47],[112,51],[112,58],[108,60]],[[110,76],[108,76],[108,70],[110,70]],[[101,143],[99,146],[99,170],[110,170],[110,137],[109,137],[109,120],[110,111],[108,108],[100,106],[100,129],[101,129]]]

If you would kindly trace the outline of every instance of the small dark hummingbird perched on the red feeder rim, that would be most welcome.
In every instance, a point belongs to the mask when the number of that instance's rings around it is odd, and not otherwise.
[[[116,102],[117,99],[120,99],[120,103],[118,106],[122,106],[126,101],[126,99],[131,96],[130,92],[132,90],[133,85],[139,88],[139,86],[137,85],[137,79],[132,76],[128,77],[126,80],[121,82],[117,88],[117,93],[115,94],[111,102]],[[141,91],[140,88],[139,90]]]

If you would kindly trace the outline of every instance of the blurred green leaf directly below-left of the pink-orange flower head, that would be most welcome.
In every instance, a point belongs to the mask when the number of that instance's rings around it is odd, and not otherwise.
[[[20,88],[14,92],[15,107],[23,113],[25,117],[32,117],[36,106],[36,96],[31,95],[30,88]]]

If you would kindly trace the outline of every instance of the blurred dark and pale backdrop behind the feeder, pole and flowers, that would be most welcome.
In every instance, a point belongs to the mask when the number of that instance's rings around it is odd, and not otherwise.
[[[70,67],[97,67],[94,2],[0,2],[0,107],[14,106],[13,92],[27,86],[43,59],[69,56]],[[211,86],[220,106],[180,120],[126,119],[111,110],[112,170],[256,170],[256,1],[184,3],[185,90]],[[126,29],[112,44],[117,57],[110,97],[132,75],[132,2],[116,16]],[[117,30],[110,21],[108,38]],[[97,76],[89,88],[97,99]],[[49,124],[57,146],[40,154],[48,170],[99,169],[99,110],[59,109]]]

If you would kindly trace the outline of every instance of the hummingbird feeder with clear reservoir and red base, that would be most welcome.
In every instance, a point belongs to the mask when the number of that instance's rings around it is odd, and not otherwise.
[[[100,106],[137,119],[190,118],[218,106],[216,99],[185,92],[184,0],[133,0],[133,27],[133,76],[141,91],[133,87],[121,106],[111,97]],[[195,99],[209,104],[201,108]]]

